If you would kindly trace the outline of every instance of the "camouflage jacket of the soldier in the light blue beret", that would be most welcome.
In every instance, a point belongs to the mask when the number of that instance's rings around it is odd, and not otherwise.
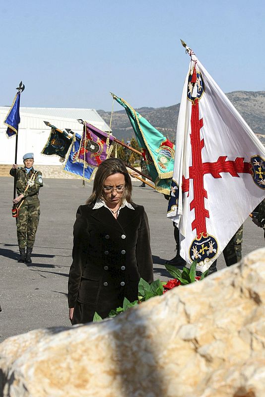
[[[25,192],[28,181],[30,180],[33,172],[36,173],[36,177],[34,179],[33,185],[29,186]],[[9,174],[12,177],[14,177],[15,170],[13,168],[11,168]],[[16,192],[17,192],[18,196],[23,194],[25,199],[28,201],[37,199],[39,190],[42,186],[43,186],[42,173],[40,171],[34,170],[34,168],[32,167],[32,169],[29,171],[29,173],[27,173],[27,171],[24,167],[17,168],[17,170],[16,170]]]

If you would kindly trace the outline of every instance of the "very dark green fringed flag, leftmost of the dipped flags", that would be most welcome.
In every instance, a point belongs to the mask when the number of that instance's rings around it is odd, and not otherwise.
[[[66,157],[71,143],[72,138],[69,138],[65,132],[62,133],[57,131],[56,127],[52,126],[47,143],[42,149],[42,154]]]

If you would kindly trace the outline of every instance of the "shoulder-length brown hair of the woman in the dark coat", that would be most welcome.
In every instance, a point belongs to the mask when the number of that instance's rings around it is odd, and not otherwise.
[[[86,204],[96,202],[97,199],[103,198],[102,192],[105,179],[114,174],[124,175],[125,188],[122,198],[126,199],[128,202],[132,201],[132,181],[126,166],[119,158],[108,158],[98,166],[94,179],[92,195],[86,200]]]

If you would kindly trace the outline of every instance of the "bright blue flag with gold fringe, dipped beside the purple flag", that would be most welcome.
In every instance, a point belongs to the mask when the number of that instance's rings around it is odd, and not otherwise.
[[[74,134],[72,144],[66,155],[66,163],[64,171],[68,174],[75,175],[77,178],[90,179],[93,177],[97,170],[97,166],[93,167],[86,162],[80,163],[78,161],[78,151],[80,147],[81,136],[77,133]]]

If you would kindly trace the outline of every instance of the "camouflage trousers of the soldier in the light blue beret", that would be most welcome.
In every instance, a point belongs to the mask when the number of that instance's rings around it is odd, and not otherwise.
[[[16,218],[16,232],[19,248],[33,248],[35,235],[40,219],[40,201],[28,202],[21,205]]]

